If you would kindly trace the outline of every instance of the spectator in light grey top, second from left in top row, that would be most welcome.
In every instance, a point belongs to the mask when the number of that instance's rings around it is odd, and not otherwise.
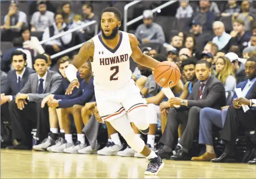
[[[44,31],[46,27],[53,25],[54,13],[47,11],[46,1],[37,1],[38,11],[32,15],[31,18],[31,32]]]

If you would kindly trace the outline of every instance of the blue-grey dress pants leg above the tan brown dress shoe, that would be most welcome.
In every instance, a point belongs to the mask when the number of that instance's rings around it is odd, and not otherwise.
[[[227,116],[228,109],[215,110],[205,107],[200,112],[199,144],[213,146],[213,125],[222,128]]]

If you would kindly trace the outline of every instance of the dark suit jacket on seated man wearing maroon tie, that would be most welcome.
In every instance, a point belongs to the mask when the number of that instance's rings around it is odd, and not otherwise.
[[[198,100],[198,94],[200,90],[201,83],[196,82],[193,86],[192,93],[188,96],[188,107],[198,106],[198,107],[212,107],[215,109],[220,109],[225,106],[226,96],[224,85],[219,81],[218,78],[211,75],[205,84],[202,99]]]

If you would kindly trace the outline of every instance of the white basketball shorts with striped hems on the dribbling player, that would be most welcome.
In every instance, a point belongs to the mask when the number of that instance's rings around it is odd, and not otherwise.
[[[121,117],[138,107],[147,107],[147,102],[133,79],[117,90],[104,91],[95,86],[94,91],[97,109],[104,121]]]

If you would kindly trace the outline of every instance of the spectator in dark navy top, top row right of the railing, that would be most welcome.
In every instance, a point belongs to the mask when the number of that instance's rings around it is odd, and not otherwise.
[[[214,21],[214,14],[209,10],[210,2],[201,0],[199,3],[200,10],[193,13],[192,17],[186,23],[184,29],[189,31],[192,22],[199,22],[202,24],[203,31],[211,31],[212,23]]]

